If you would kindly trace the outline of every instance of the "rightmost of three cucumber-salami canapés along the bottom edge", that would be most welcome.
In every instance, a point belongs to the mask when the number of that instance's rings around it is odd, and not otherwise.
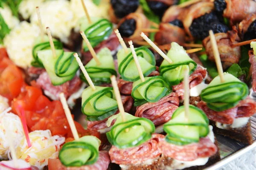
[[[159,164],[163,169],[181,170],[184,168],[204,169],[204,165],[214,164],[220,159],[212,126],[205,113],[189,105],[186,117],[184,106],[180,106],[172,119],[164,124],[167,133],[159,142],[162,153]],[[196,167],[195,167],[196,166]]]

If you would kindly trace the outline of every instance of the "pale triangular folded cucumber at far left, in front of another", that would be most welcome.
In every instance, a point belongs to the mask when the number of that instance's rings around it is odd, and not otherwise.
[[[73,56],[74,52],[55,50],[55,53],[56,57],[53,58],[51,50],[41,50],[38,51],[38,58],[49,74],[52,85],[61,85],[75,77],[79,65]]]

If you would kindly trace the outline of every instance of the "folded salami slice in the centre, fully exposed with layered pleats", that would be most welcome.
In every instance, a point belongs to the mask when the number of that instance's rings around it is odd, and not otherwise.
[[[147,118],[157,126],[168,122],[172,118],[172,114],[178,106],[178,95],[176,93],[171,93],[160,99],[158,102],[148,102],[144,105],[138,106],[135,116]]]

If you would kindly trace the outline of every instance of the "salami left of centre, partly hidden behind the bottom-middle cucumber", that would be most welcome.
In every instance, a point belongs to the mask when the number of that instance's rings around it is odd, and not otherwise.
[[[125,112],[129,112],[132,108],[133,105],[133,99],[131,96],[121,96],[122,103],[124,105]],[[116,111],[115,114],[118,114],[119,111]],[[89,130],[99,130],[99,129],[104,129],[107,127],[107,121],[108,118],[100,121],[87,121],[87,128]],[[111,125],[113,125],[116,121],[113,120]]]

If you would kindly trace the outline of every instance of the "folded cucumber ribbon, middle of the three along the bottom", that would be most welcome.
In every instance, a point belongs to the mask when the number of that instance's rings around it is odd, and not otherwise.
[[[136,147],[151,139],[151,134],[155,131],[154,123],[146,118],[138,118],[129,113],[125,113],[126,121],[122,122],[121,114],[116,114],[108,119],[108,127],[116,119],[111,130],[106,133],[108,141],[120,148]],[[126,129],[129,129],[126,132]]]

